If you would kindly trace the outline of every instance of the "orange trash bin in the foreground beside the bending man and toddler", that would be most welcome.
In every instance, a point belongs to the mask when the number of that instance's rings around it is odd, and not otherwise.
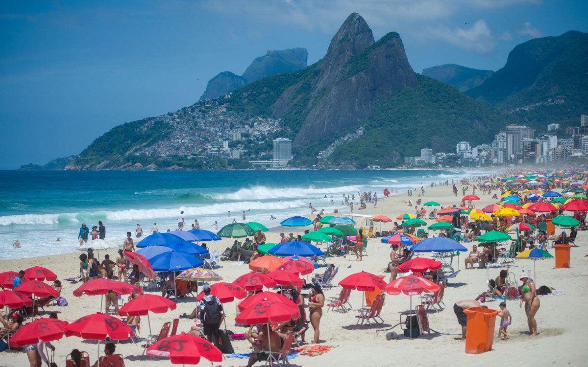
[[[467,315],[466,353],[479,354],[492,349],[494,342],[495,309],[472,307],[463,310]]]

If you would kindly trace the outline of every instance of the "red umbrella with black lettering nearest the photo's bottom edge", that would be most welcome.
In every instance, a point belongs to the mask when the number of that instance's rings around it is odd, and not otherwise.
[[[206,358],[211,362],[222,362],[222,352],[199,336],[178,334],[168,336],[147,348],[147,355],[169,357],[174,365],[196,365],[200,359]]]

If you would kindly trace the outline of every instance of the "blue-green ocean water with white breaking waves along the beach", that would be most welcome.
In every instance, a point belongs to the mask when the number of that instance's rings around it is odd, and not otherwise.
[[[184,211],[186,228],[197,218],[214,230],[242,220],[266,227],[296,214],[342,205],[345,194],[383,189],[394,194],[431,182],[490,174],[466,170],[371,171],[0,171],[0,260],[76,251],[79,227],[101,220],[106,240],[121,244],[141,224],[146,235],[175,230]],[[328,198],[325,198],[325,195]],[[330,203],[330,195],[334,204]],[[228,211],[231,217],[228,217]],[[276,220],[270,220],[270,216]],[[60,238],[60,241],[56,241]],[[20,250],[12,248],[19,240]],[[135,242],[138,242],[135,240]]]

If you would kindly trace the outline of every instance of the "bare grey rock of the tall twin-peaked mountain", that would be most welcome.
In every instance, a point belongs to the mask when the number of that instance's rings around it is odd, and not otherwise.
[[[352,14],[333,37],[310,97],[312,106],[296,136],[304,147],[372,113],[394,90],[416,87],[400,36],[388,33],[373,43],[363,18]]]

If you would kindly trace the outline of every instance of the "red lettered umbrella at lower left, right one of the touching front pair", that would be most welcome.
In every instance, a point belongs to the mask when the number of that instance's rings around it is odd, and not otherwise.
[[[106,336],[115,340],[125,340],[133,336],[133,329],[121,319],[96,312],[65,326],[65,335],[90,340],[105,340]]]

